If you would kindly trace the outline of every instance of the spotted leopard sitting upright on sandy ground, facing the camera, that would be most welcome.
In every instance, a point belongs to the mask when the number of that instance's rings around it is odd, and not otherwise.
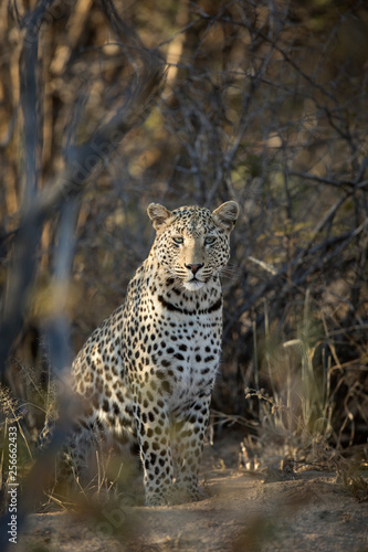
[[[150,203],[156,236],[124,302],[90,336],[72,363],[84,412],[70,450],[88,468],[96,436],[137,448],[145,505],[202,497],[199,469],[220,365],[221,274],[239,204],[213,212]]]

